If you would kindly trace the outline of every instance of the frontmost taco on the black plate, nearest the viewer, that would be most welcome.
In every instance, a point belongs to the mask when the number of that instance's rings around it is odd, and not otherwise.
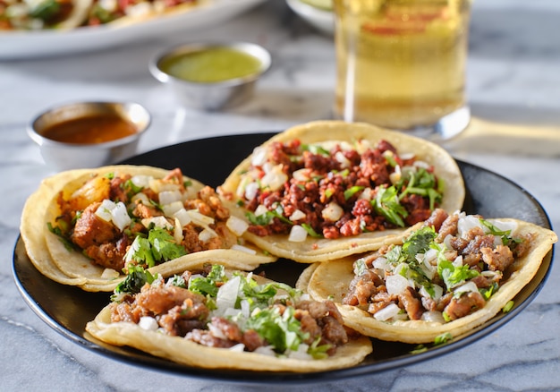
[[[212,369],[327,371],[372,351],[368,337],[344,327],[334,303],[218,264],[166,282],[140,269],[86,330],[111,345]]]

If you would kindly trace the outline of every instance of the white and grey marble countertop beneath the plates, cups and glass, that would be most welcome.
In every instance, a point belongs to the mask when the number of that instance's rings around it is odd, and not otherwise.
[[[467,131],[444,144],[456,158],[519,184],[539,200],[555,227],[560,226],[559,18],[556,0],[474,2],[467,84],[473,119]],[[148,73],[148,59],[161,47],[186,39],[225,37],[257,42],[273,55],[273,67],[259,82],[256,97],[243,107],[212,114],[181,109]],[[147,151],[208,136],[281,131],[330,118],[334,86],[332,38],[313,30],[284,0],[269,0],[195,33],[91,53],[0,62],[0,389],[259,389],[116,362],[67,340],[30,310],[14,285],[13,246],[24,201],[42,178],[53,173],[25,132],[33,116],[75,100],[138,101],[153,115],[139,147]],[[553,265],[547,285],[521,314],[453,353],[367,377],[296,388],[558,390],[559,285],[560,269]]]

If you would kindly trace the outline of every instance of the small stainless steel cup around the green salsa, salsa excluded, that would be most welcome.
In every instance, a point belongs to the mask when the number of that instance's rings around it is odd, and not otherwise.
[[[161,68],[166,60],[177,56],[197,52],[211,47],[230,47],[257,57],[260,61],[258,72],[250,75],[217,82],[185,81],[170,75]],[[270,54],[263,47],[247,42],[211,42],[184,44],[155,55],[149,64],[149,71],[163,83],[171,86],[177,100],[185,107],[199,110],[216,111],[235,107],[248,101],[254,92],[259,77],[267,72],[271,64]]]

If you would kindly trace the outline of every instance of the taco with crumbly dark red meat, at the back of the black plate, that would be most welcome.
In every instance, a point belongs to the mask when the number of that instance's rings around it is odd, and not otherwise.
[[[461,209],[465,188],[454,158],[434,143],[318,121],[254,149],[218,192],[250,224],[251,243],[310,263],[394,243],[433,209]]]

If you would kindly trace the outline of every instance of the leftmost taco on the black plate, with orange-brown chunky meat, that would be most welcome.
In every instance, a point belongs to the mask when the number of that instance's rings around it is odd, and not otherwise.
[[[212,188],[179,169],[150,166],[55,175],[26,202],[21,218],[38,270],[62,272],[48,277],[87,291],[112,291],[135,265],[169,276],[208,260],[248,270],[276,260],[244,243],[244,229]],[[38,251],[43,241],[47,251]]]

